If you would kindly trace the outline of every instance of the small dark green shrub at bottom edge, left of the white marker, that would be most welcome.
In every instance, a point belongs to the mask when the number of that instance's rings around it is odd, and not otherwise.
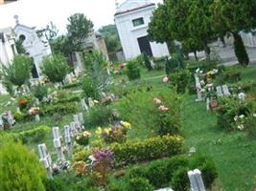
[[[136,179],[129,179],[126,182],[126,189],[125,190],[132,190],[132,191],[153,191],[153,186],[147,179],[143,178],[136,178]]]

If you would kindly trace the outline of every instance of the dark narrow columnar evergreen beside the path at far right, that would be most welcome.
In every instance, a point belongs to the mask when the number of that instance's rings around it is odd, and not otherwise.
[[[245,67],[249,64],[249,57],[244,47],[243,39],[238,32],[233,32],[233,36],[236,56],[238,58],[239,63]]]

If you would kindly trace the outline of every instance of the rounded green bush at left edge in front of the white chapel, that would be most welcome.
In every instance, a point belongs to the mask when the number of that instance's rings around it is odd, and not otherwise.
[[[1,75],[5,81],[20,87],[30,79],[32,65],[31,57],[22,54],[16,55],[12,64],[1,65]]]

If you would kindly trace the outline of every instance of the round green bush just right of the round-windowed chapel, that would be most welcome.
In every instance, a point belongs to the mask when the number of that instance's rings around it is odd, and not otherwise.
[[[66,74],[70,71],[66,58],[61,54],[46,56],[42,61],[42,73],[45,74],[50,81],[62,82]]]

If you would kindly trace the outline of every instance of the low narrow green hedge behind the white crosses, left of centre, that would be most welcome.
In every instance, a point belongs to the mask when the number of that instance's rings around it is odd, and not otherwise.
[[[41,108],[42,116],[53,116],[54,114],[67,115],[78,112],[78,107],[73,103],[56,103],[52,105],[43,105]]]

